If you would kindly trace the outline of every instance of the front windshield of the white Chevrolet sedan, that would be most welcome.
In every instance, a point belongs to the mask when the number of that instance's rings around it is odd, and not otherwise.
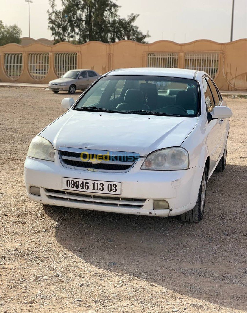
[[[195,117],[199,109],[198,95],[195,80],[139,75],[106,76],[88,90],[74,110],[104,109],[116,113]]]

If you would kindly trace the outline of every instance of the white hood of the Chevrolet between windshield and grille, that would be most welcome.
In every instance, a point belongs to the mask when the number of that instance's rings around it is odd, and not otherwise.
[[[126,151],[146,156],[154,150],[180,146],[197,122],[196,117],[69,110],[39,135],[55,149]]]

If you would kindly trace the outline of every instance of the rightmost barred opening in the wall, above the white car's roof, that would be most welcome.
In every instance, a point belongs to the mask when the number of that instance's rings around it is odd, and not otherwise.
[[[188,52],[185,53],[185,69],[195,69],[208,73],[213,79],[219,67],[218,52]]]

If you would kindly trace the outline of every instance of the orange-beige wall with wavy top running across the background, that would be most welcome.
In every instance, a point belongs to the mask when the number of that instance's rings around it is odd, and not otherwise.
[[[43,39],[45,40],[45,39]],[[23,71],[17,80],[11,80],[5,73],[4,53],[23,53]],[[49,52],[49,71],[47,76],[37,81],[28,72],[27,55],[30,52]],[[0,47],[0,81],[48,83],[57,78],[53,64],[54,52],[76,52],[78,55],[77,68],[94,69],[100,74],[109,70],[127,67],[146,67],[149,52],[178,53],[178,67],[185,66],[186,52],[219,52],[219,68],[215,82],[220,90],[247,90],[247,39],[220,44],[210,40],[196,40],[187,44],[177,44],[172,41],[156,41],[152,44],[139,44],[123,40],[114,44],[88,42],[82,45],[59,43],[47,45],[32,43],[27,46],[7,44]]]

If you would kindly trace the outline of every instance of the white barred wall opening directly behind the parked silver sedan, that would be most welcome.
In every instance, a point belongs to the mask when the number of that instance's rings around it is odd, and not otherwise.
[[[54,53],[54,67],[57,77],[61,77],[70,69],[77,69],[76,52],[56,52]]]

